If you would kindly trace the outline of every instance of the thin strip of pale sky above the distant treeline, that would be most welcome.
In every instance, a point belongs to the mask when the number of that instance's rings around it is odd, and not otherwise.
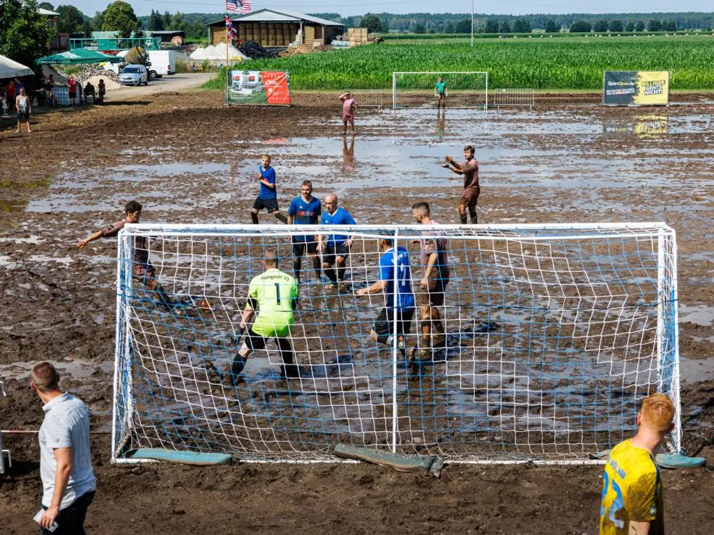
[[[368,11],[376,13],[471,13],[470,0],[452,0],[436,3],[433,0],[251,0],[253,11],[266,7],[282,7],[303,13],[339,13],[341,15],[361,15]],[[109,5],[109,0],[54,0],[55,7],[71,4],[86,15],[94,15],[98,9]],[[175,13],[222,13],[225,1],[216,0],[129,0],[134,12],[148,15],[152,9]],[[494,6],[494,4],[498,4]],[[710,0],[681,0],[676,4],[676,11],[711,11]],[[498,3],[474,0],[476,13],[498,15],[525,15],[532,13],[650,13],[655,11],[674,11],[671,0],[501,0]]]

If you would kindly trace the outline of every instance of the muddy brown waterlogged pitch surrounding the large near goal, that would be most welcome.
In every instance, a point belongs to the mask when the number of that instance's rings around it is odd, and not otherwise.
[[[411,223],[426,198],[458,223],[460,184],[438,167],[476,146],[484,223],[665,221],[678,233],[684,446],[714,463],[714,112],[706,97],[670,108],[601,108],[541,99],[533,111],[361,111],[338,134],[325,96],[293,108],[223,108],[215,93],[149,96],[39,116],[31,136],[0,133],[1,429],[37,429],[31,364],[58,362],[93,412],[98,493],[92,533],[567,533],[597,531],[599,467],[448,465],[441,479],[356,464],[196,469],[109,464],[116,244],[74,244],[121,218],[248,223],[246,171],[273,154],[283,208],[310,178],[360,223]],[[538,102],[538,100],[537,100]],[[261,216],[268,219],[267,215]],[[15,466],[0,479],[3,533],[34,531],[36,437],[5,435]],[[709,533],[714,475],[665,472],[675,534]]]

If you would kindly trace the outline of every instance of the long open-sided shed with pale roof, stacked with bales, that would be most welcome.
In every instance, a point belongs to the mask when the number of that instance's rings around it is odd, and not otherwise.
[[[331,43],[345,31],[341,22],[328,21],[289,9],[258,9],[233,17],[233,27],[241,41],[257,41],[262,46]],[[208,24],[208,42],[226,42],[226,21]]]

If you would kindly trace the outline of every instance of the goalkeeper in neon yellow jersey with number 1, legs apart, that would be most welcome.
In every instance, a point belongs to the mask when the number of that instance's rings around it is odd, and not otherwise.
[[[269,338],[275,338],[283,359],[283,377],[298,377],[298,367],[293,362],[293,348],[290,345],[290,327],[293,325],[293,310],[298,305],[298,283],[278,270],[278,255],[275,250],[266,250],[263,258],[265,271],[251,280],[248,301],[241,317],[241,331],[245,330],[253,314],[258,317],[253,322],[241,350],[233,359],[231,372],[238,375],[246,364],[248,355],[263,350]]]

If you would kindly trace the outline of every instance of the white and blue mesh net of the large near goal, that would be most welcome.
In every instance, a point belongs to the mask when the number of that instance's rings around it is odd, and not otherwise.
[[[337,460],[332,449],[343,443],[453,462],[587,462],[635,432],[638,407],[653,392],[677,407],[668,444],[678,451],[673,230],[659,223],[436,229],[126,225],[113,458],[164,448]],[[316,233],[353,243],[343,272],[318,278],[311,258],[302,260],[283,339],[296,377],[283,378],[286,353],[274,340],[234,373],[232,363],[243,364],[236,355],[246,340],[240,324],[251,280],[266,270],[270,250],[280,270],[297,275],[293,240]],[[437,290],[431,302],[423,293],[422,245],[443,253],[443,302]],[[399,254],[385,256],[390,246]],[[149,250],[158,290],[142,278],[151,270],[138,260],[141,249]],[[326,284],[333,275],[343,275],[342,287]],[[383,290],[359,295],[378,280]],[[401,308],[387,306],[395,284]],[[253,295],[258,310],[261,299],[266,310],[275,305],[267,290],[261,295]],[[380,340],[371,337],[376,320]],[[396,336],[385,340],[390,330]],[[399,332],[409,332],[404,351]]]

